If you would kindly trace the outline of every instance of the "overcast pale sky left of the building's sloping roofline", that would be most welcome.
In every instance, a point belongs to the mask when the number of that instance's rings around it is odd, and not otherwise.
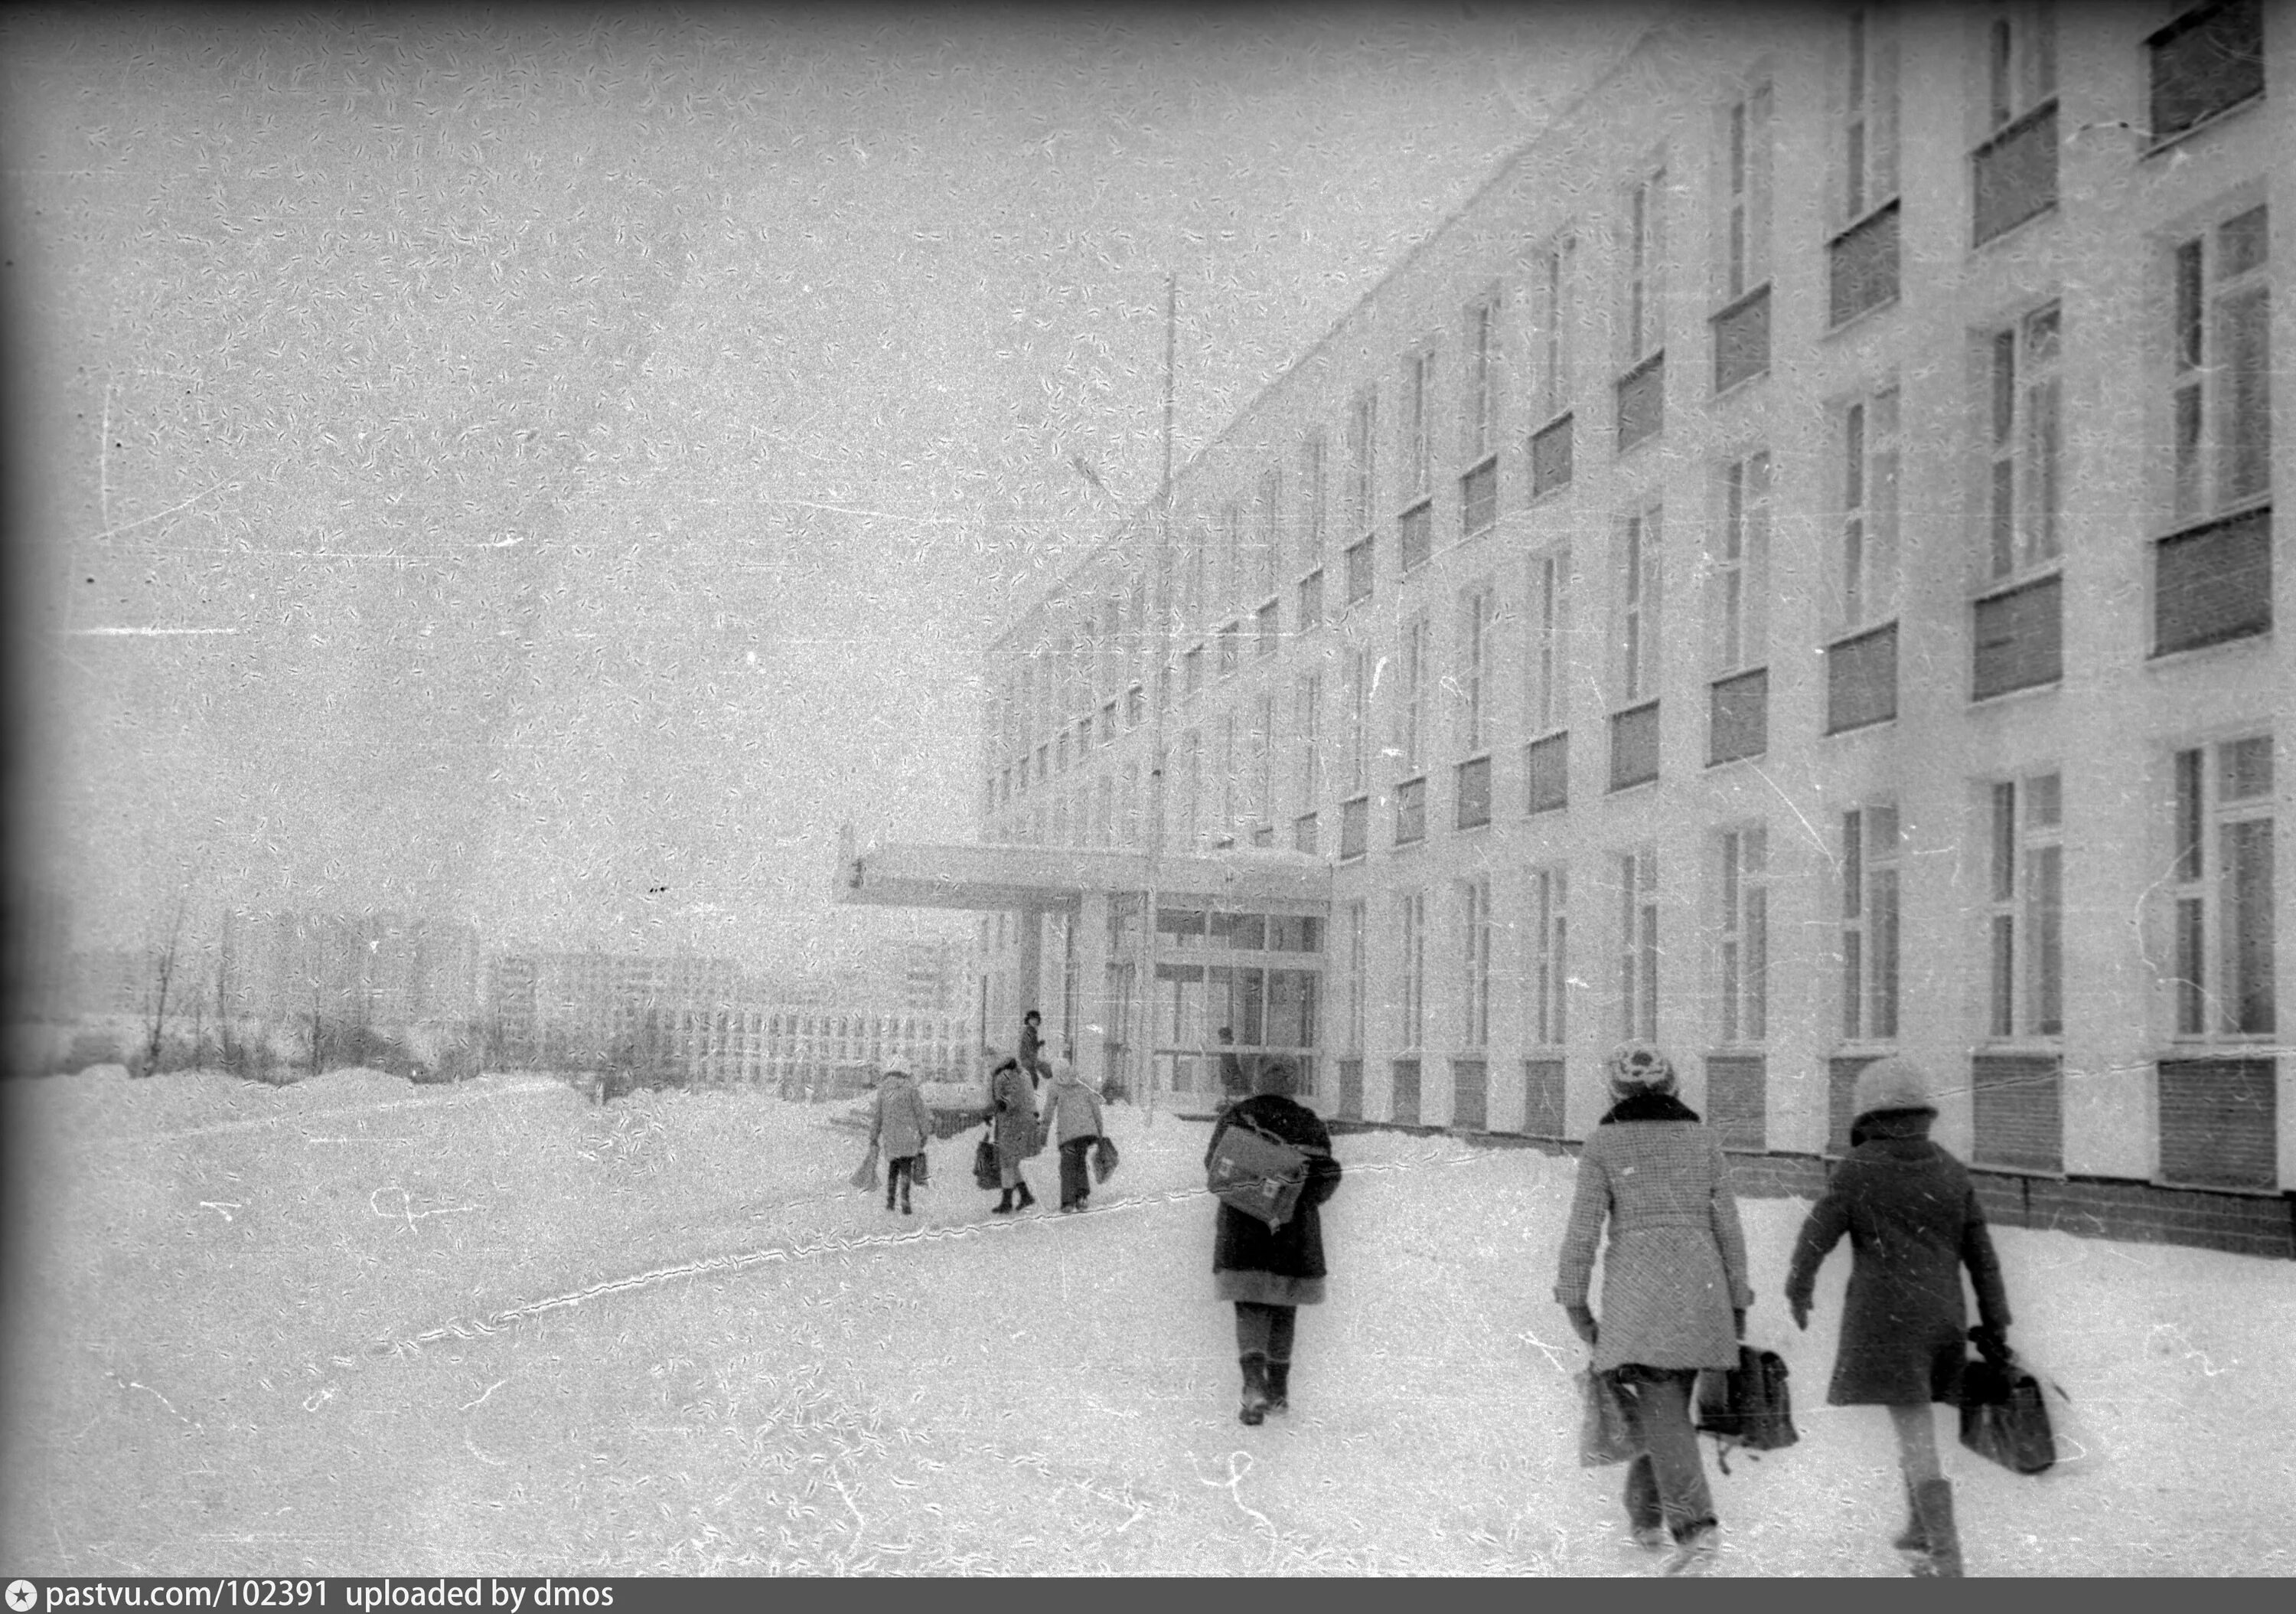
[[[831,914],[836,827],[978,833],[978,647],[1153,491],[1166,271],[1185,461],[1644,16],[11,11],[83,944],[186,884],[767,967],[912,923]]]

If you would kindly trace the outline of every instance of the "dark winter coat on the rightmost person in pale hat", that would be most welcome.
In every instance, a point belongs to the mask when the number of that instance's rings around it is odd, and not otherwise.
[[[1958,1398],[1968,1357],[1963,1267],[1977,1286],[1977,1318],[2009,1327],[2002,1267],[1968,1169],[1926,1136],[1857,1143],[1802,1221],[1789,1304],[1809,1304],[1818,1265],[1844,1233],[1851,1283],[1825,1398],[1837,1407]]]

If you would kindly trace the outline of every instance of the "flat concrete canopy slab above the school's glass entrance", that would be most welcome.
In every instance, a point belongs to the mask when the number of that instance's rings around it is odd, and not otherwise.
[[[1164,854],[1120,847],[1024,845],[870,845],[838,847],[831,898],[868,907],[946,907],[1008,911],[1070,907],[1086,891],[1146,891],[1159,900],[1217,907],[1265,907],[1320,914],[1332,898],[1332,868],[1304,852],[1267,847]]]

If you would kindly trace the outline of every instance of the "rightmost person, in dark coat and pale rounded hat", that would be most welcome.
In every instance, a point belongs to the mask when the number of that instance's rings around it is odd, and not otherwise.
[[[2009,1293],[1968,1166],[1929,1141],[1938,1104],[1922,1068],[1910,1058],[1874,1061],[1857,1072],[1851,1113],[1851,1153],[1793,1242],[1786,1306],[1807,1329],[1818,1267],[1848,1233],[1851,1283],[1825,1400],[1890,1410],[1910,1513],[1892,1545],[1915,1554],[1917,1575],[1958,1577],[1954,1485],[1938,1462],[1931,1407],[1961,1400],[1963,1267],[1988,1348],[2009,1345]]]

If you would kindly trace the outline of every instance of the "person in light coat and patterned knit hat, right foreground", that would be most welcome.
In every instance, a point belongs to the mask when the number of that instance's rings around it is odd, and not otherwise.
[[[1674,1065],[1649,1042],[1609,1056],[1616,1100],[1580,1150],[1554,1299],[1609,1373],[1642,1453],[1626,1469],[1626,1518],[1644,1547],[1674,1543],[1667,1575],[1701,1575],[1720,1552],[1713,1490],[1699,1460],[1692,1396],[1699,1368],[1738,1366],[1745,1309],[1745,1231],[1722,1162],[1722,1139],[1674,1095]],[[1603,1318],[1587,1304],[1596,1247]]]

